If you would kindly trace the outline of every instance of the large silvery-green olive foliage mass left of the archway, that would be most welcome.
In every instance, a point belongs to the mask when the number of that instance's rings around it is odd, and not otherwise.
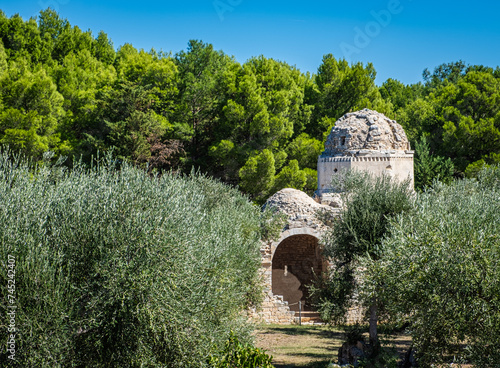
[[[269,214],[200,175],[47,159],[0,154],[0,314],[10,255],[20,366],[200,367],[231,331],[246,341]]]

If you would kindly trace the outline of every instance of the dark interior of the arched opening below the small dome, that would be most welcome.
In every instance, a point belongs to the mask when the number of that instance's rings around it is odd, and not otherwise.
[[[276,248],[272,267],[273,294],[282,295],[291,310],[299,310],[299,300],[303,310],[313,310],[307,285],[323,270],[318,239],[311,235],[286,238]]]

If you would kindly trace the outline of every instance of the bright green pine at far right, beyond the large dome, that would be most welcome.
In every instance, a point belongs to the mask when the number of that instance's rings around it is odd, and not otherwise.
[[[425,71],[424,78],[422,88],[393,86],[390,93],[408,96],[395,116],[409,138],[426,136],[430,152],[451,158],[460,174],[478,161],[499,162],[500,68],[460,61]]]

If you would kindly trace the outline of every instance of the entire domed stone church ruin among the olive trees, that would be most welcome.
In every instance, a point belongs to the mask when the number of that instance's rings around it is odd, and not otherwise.
[[[300,302],[303,321],[317,318],[307,285],[328,267],[320,246],[323,224],[315,214],[320,209],[340,211],[339,195],[330,185],[332,177],[341,170],[355,169],[399,180],[410,178],[413,185],[413,153],[401,125],[376,111],[348,113],[335,123],[318,158],[315,198],[287,188],[265,204],[285,213],[288,221],[278,240],[262,244],[265,300],[254,314],[269,323],[292,323],[297,320]],[[353,309],[348,322],[361,317],[362,311]]]

